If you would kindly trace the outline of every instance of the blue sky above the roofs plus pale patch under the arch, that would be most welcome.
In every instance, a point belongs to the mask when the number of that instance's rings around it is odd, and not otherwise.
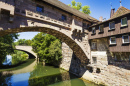
[[[59,0],[65,4],[71,4],[72,0]],[[90,6],[91,14],[90,16],[99,20],[100,16],[103,18],[110,18],[111,5],[112,8],[117,10],[120,7],[120,0],[75,0],[76,2],[81,2],[82,6]],[[130,0],[122,0],[122,6],[130,9]],[[19,39],[32,39],[38,32],[24,32],[20,33]]]

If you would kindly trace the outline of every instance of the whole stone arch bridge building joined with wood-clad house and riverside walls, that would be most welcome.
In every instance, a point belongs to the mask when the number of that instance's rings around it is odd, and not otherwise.
[[[129,86],[129,15],[121,6],[111,10],[109,20],[98,21],[58,0],[0,0],[0,36],[24,31],[54,35],[65,42],[61,68],[98,84]]]

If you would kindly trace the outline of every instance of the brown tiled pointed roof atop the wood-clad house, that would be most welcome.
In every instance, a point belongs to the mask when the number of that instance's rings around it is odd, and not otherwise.
[[[123,7],[123,6],[121,6],[121,7],[119,7],[118,10],[114,13],[114,15],[111,17],[111,19],[116,18],[116,17],[119,17],[119,16],[122,16],[122,15],[124,15],[124,14],[126,14],[126,13],[129,13],[129,12],[130,12],[129,9],[127,9],[127,8],[125,8],[125,7]]]

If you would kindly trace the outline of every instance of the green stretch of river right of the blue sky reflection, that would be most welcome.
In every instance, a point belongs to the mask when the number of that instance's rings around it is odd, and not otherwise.
[[[29,86],[97,86],[93,83],[78,79],[79,77],[54,67],[37,65],[30,72]]]

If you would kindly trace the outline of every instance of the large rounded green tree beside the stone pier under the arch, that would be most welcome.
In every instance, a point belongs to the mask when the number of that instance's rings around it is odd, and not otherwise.
[[[49,34],[38,33],[32,41],[33,51],[37,53],[40,61],[45,60],[46,63],[58,65],[62,58],[59,39]]]

